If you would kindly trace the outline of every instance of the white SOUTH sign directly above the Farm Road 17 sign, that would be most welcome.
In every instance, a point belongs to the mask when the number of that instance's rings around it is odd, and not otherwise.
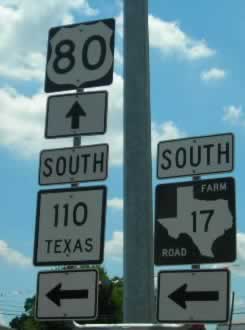
[[[158,144],[158,179],[233,170],[233,134],[163,141]]]

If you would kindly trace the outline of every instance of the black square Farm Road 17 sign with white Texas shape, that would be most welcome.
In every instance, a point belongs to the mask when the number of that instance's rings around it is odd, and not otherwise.
[[[155,207],[156,265],[235,260],[233,178],[158,185]]]

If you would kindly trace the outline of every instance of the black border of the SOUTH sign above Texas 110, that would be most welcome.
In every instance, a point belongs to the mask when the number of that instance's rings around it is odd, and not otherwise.
[[[78,150],[78,149],[89,149],[89,148],[93,148],[93,147],[98,147],[98,146],[105,146],[106,148],[106,155],[107,155],[107,158],[106,158],[106,161],[105,161],[105,166],[106,166],[106,170],[105,170],[105,175],[102,179],[97,179],[97,180],[94,180],[94,179],[91,179],[91,180],[72,180],[72,181],[62,181],[62,182],[52,182],[52,183],[41,183],[41,158],[42,158],[42,153],[46,152],[46,151],[56,151],[56,150]],[[38,184],[40,186],[52,186],[52,185],[59,185],[59,184],[73,184],[73,183],[77,183],[77,182],[82,182],[82,183],[85,183],[85,182],[98,182],[98,181],[104,181],[108,178],[108,159],[109,159],[109,144],[107,143],[101,143],[101,144],[91,144],[91,145],[84,145],[84,146],[81,146],[81,147],[68,147],[68,148],[57,148],[57,149],[45,149],[45,150],[42,150],[40,152],[40,156],[39,156],[39,170],[38,170],[38,173],[39,173],[39,176],[38,176]]]

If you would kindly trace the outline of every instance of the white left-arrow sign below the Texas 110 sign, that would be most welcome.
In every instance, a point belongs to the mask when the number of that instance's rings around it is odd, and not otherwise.
[[[94,320],[98,309],[96,270],[40,272],[37,281],[36,319]]]

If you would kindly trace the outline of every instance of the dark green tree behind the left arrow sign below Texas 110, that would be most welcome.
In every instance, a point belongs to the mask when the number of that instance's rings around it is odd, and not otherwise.
[[[88,267],[81,267],[88,268]],[[89,267],[94,268],[94,267]],[[98,319],[90,323],[122,322],[123,281],[119,277],[110,278],[103,267],[95,267],[99,272],[99,306]],[[64,269],[64,268],[63,268]],[[72,322],[40,322],[35,320],[35,296],[27,298],[24,304],[25,313],[10,321],[16,330],[68,330]],[[81,322],[80,323],[89,323]]]

